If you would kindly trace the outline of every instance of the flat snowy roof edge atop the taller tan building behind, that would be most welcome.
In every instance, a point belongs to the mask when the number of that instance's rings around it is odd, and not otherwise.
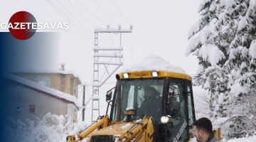
[[[73,70],[61,70],[61,69],[58,69],[58,70],[26,70],[26,69],[19,69],[19,70],[11,70],[10,71],[11,73],[18,73],[18,72],[24,72],[24,73],[27,73],[27,72],[33,72],[33,73],[56,73],[56,74],[63,74],[63,75],[73,75],[74,77],[78,77],[78,79],[80,80],[80,77],[79,75],[75,74],[73,72]],[[80,82],[82,82],[82,80],[80,80]]]

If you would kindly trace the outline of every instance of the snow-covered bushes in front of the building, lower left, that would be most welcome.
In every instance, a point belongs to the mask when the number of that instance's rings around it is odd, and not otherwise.
[[[43,119],[38,121],[14,121],[10,117],[1,121],[1,131],[4,133],[2,141],[55,141],[65,142],[66,137],[72,134],[77,134],[86,128],[84,122],[79,124],[67,123],[67,119],[60,115],[46,114]]]

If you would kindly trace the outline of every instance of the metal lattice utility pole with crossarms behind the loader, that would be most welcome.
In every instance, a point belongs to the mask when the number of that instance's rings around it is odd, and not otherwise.
[[[99,46],[99,36],[100,33],[115,33],[120,34],[120,44],[119,47],[104,48]],[[108,78],[121,66],[123,65],[123,48],[122,48],[122,33],[132,33],[132,25],[129,29],[121,29],[121,25],[118,28],[110,28],[107,26],[107,29],[95,30],[95,47],[94,47],[94,62],[93,62],[93,84],[92,84],[92,123],[97,121],[97,117],[100,116],[100,87],[104,84]],[[118,54],[106,54],[107,51],[119,52]],[[119,62],[112,62],[107,58],[119,58]],[[102,68],[100,67],[102,66]],[[111,66],[112,70],[110,70]],[[105,70],[102,70],[104,69]],[[100,72],[107,72],[105,73]],[[105,77],[105,78],[104,78]]]

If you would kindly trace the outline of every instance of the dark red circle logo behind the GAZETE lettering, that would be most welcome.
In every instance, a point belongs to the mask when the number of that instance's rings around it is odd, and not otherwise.
[[[29,12],[18,11],[9,20],[9,31],[18,40],[27,40],[36,33],[36,18]]]

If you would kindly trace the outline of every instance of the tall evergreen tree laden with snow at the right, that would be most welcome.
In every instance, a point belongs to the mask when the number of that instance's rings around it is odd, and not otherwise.
[[[200,20],[188,33],[186,55],[199,60],[193,84],[210,96],[213,118],[227,117],[230,133],[256,131],[256,1],[202,0]],[[226,126],[226,125],[225,125]]]

